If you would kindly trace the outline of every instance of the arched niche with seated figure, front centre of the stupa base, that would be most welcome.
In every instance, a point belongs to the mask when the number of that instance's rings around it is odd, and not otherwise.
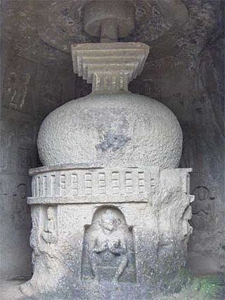
[[[135,282],[132,227],[119,209],[98,208],[84,232],[82,280]]]

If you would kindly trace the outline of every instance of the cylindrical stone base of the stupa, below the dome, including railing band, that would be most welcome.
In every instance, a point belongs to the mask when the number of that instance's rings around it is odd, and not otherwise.
[[[93,289],[108,299],[101,285],[128,287],[124,299],[176,290],[191,233],[189,172],[72,164],[30,170],[35,268],[23,290],[78,299],[94,299]]]

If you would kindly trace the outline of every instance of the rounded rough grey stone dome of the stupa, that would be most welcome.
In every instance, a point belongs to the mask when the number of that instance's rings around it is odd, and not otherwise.
[[[89,94],[50,113],[37,146],[43,165],[176,168],[182,132],[159,101],[130,92]]]

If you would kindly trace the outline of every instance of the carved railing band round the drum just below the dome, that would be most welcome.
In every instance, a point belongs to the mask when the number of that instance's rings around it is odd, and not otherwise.
[[[190,171],[172,171],[184,174],[181,187],[186,194]],[[28,204],[148,202],[160,185],[160,169],[155,167],[103,168],[70,164],[35,168],[30,170],[30,175],[32,197],[28,198]]]

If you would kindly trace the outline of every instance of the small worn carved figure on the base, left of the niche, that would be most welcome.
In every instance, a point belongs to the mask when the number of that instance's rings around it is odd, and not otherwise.
[[[56,242],[57,233],[56,233],[56,220],[54,219],[54,208],[49,206],[47,210],[46,223],[44,225],[44,230],[42,232],[42,237],[47,244],[53,244]]]

